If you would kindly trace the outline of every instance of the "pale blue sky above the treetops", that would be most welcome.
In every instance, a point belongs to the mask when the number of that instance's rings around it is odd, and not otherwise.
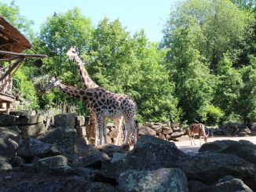
[[[35,32],[54,12],[65,13],[78,6],[84,16],[90,17],[94,26],[108,17],[119,19],[127,31],[133,34],[144,29],[150,41],[163,38],[163,25],[176,0],[16,0],[20,14],[33,20]],[[11,0],[0,0],[9,3]]]

